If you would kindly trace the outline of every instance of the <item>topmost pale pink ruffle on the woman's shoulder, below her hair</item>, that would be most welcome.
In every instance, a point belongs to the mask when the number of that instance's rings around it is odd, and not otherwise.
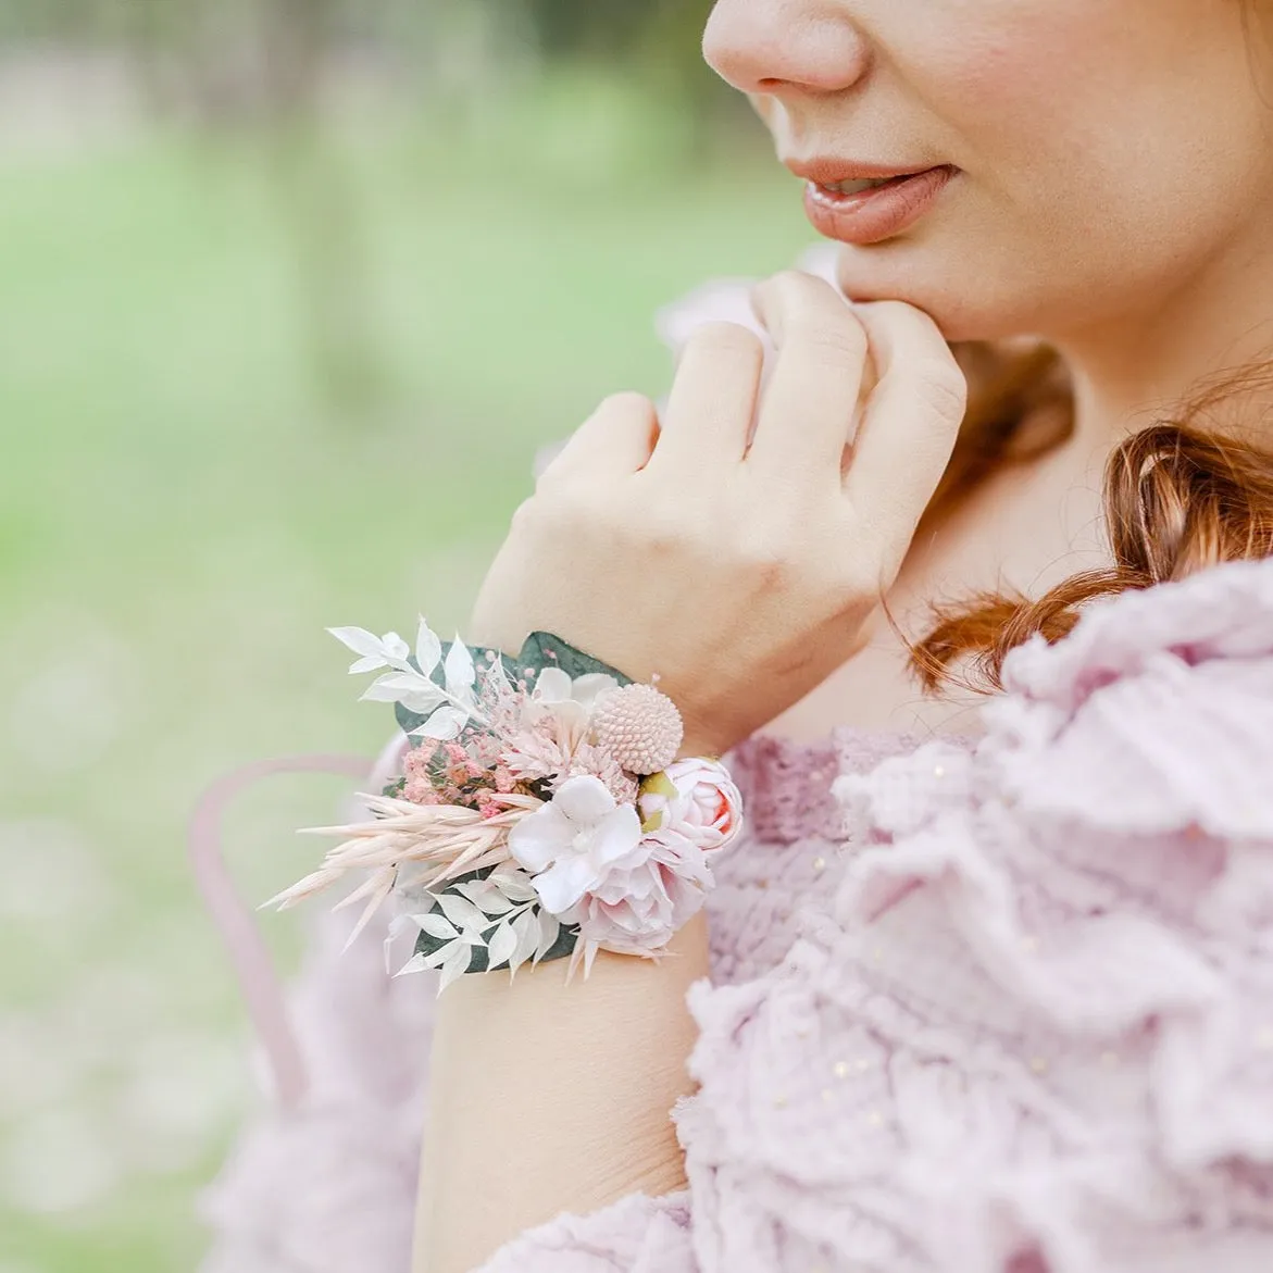
[[[1025,810],[1273,838],[1273,560],[1125,593],[1004,671],[987,759]]]

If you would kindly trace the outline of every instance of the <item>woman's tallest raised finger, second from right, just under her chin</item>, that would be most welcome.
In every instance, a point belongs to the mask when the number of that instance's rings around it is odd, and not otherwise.
[[[747,462],[838,486],[866,374],[866,330],[830,284],[808,274],[779,274],[754,298],[778,358]]]

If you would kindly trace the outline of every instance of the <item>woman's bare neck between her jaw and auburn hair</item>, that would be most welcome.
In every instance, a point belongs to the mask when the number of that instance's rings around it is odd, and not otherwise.
[[[1207,382],[1273,358],[1273,243],[1263,255],[1235,244],[1148,303],[1048,339],[1073,376],[1078,437],[1114,446],[1156,420],[1179,419],[1181,401]],[[1258,405],[1273,446],[1267,384],[1264,396]]]

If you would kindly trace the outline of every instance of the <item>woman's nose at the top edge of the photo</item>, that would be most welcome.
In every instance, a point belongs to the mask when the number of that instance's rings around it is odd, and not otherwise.
[[[869,48],[843,14],[812,0],[717,0],[703,36],[708,65],[742,93],[838,93],[866,70]]]

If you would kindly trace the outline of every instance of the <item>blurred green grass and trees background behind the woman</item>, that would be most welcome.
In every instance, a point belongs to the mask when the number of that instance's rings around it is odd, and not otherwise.
[[[0,0],[0,1273],[197,1265],[260,1100],[199,792],[373,754],[323,628],[462,625],[654,311],[807,244],[708,8]],[[234,807],[251,897],[341,791]]]

